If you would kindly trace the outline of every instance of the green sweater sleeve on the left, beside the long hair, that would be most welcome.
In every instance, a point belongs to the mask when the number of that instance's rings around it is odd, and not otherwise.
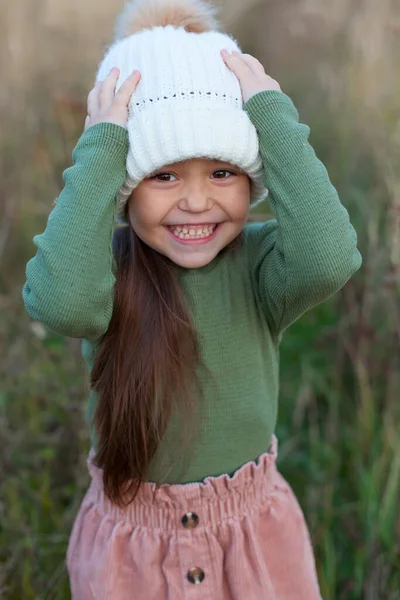
[[[127,131],[98,123],[80,137],[73,166],[38,250],[26,266],[22,297],[29,315],[66,336],[95,341],[113,306],[112,236],[116,195],[125,180]]]

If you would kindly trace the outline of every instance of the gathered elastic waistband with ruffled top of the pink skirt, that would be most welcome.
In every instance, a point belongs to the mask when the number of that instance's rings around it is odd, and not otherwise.
[[[278,441],[273,436],[267,452],[257,461],[242,465],[233,476],[223,474],[206,477],[202,482],[162,484],[142,483],[139,492],[126,508],[112,503],[104,494],[102,470],[93,464],[91,449],[87,465],[92,481],[88,497],[98,510],[114,521],[128,521],[136,526],[172,533],[182,529],[185,515],[194,513],[198,527],[207,523],[218,526],[226,519],[240,518],[257,506],[279,485],[276,469]],[[196,526],[197,526],[196,525]]]

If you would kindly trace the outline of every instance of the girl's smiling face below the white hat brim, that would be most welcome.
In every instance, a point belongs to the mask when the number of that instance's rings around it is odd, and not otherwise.
[[[194,158],[167,165],[141,181],[128,204],[136,234],[188,269],[203,267],[247,222],[250,179],[239,167]]]

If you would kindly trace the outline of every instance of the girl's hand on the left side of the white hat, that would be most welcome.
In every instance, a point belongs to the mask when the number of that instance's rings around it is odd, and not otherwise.
[[[133,71],[132,75],[121,85],[118,93],[115,94],[119,74],[120,71],[117,67],[112,68],[105,80],[98,81],[89,92],[85,130],[97,123],[114,123],[121,127],[126,126],[129,100],[136,90],[141,75],[139,71]]]

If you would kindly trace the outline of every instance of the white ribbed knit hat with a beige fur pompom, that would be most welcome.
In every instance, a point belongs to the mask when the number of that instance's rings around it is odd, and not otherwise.
[[[117,92],[134,69],[141,73],[129,105],[120,222],[132,190],[145,177],[189,158],[243,169],[252,182],[251,205],[268,193],[257,131],[243,110],[239,81],[220,56],[222,48],[241,50],[230,35],[215,31],[214,11],[201,0],[131,0],[118,18],[96,81],[118,67]]]

